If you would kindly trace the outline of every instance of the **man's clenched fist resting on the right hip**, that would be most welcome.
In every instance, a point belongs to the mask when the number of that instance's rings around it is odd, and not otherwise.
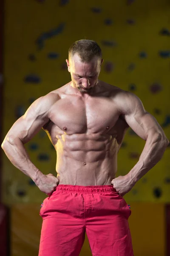
[[[113,179],[111,184],[113,185],[113,188],[116,189],[116,192],[118,192],[121,196],[124,196],[126,193],[128,193],[135,185],[130,180],[129,175],[119,176]]]

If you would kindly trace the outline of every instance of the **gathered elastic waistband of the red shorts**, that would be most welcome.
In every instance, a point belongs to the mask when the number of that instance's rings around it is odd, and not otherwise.
[[[84,194],[104,193],[104,192],[116,192],[113,185],[101,185],[101,186],[78,186],[78,185],[64,185],[60,184],[56,187],[56,191],[62,192],[80,192]]]

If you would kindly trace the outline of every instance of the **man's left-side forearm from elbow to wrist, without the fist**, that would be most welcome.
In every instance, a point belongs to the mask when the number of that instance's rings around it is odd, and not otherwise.
[[[28,177],[31,177],[31,179],[38,185],[40,177],[42,177],[43,174],[31,162],[22,141],[19,138],[10,142],[5,140],[2,145],[2,148],[11,163]]]

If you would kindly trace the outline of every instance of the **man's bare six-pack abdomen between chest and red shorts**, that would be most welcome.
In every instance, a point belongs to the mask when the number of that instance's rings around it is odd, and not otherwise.
[[[59,184],[111,185],[119,148],[115,138],[108,134],[62,134],[57,139]]]

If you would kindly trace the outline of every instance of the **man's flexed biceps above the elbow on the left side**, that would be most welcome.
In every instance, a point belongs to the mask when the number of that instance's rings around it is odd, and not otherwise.
[[[26,144],[40,131],[46,122],[48,122],[48,117],[27,116],[25,118],[25,116],[21,116],[8,131],[6,139],[10,143],[14,143],[14,140],[19,138],[23,144]]]

